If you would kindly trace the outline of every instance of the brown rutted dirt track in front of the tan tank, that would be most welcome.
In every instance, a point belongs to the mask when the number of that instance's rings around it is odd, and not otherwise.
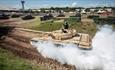
[[[38,64],[46,67],[48,70],[75,70],[74,66],[62,65],[56,60],[43,58],[40,53],[33,48],[29,40],[40,34],[14,29],[6,39],[0,41],[0,48],[7,49],[17,56],[36,60]]]

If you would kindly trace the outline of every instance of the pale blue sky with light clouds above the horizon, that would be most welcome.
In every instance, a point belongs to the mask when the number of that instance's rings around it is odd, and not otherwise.
[[[25,8],[115,6],[115,0],[25,0]],[[0,0],[0,7],[21,8],[21,0]]]

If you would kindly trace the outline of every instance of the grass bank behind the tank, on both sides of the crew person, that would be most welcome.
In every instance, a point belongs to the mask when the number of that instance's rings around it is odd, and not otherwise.
[[[36,21],[23,24],[24,28],[29,28],[33,30],[40,30],[40,31],[53,31],[61,29],[64,21],[60,20],[52,20],[49,21],[40,21],[39,18],[37,18]],[[70,25],[70,28],[76,29],[77,32],[80,33],[88,33],[93,37],[97,31],[96,24],[94,22],[76,22],[74,20],[68,20],[68,23]]]

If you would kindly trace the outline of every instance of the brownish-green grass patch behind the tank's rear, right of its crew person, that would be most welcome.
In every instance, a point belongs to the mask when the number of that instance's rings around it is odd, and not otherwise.
[[[71,28],[76,29],[77,32],[79,33],[87,33],[89,34],[91,37],[93,37],[97,31],[97,27],[95,23],[77,23],[77,24],[72,24]]]

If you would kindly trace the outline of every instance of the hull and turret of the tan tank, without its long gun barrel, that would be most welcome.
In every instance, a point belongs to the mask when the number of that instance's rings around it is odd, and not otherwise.
[[[92,49],[92,41],[89,34],[77,33],[74,29],[56,30],[52,32],[42,32],[42,35],[31,39],[32,42],[49,41],[55,45],[75,44],[78,48],[84,50]]]

